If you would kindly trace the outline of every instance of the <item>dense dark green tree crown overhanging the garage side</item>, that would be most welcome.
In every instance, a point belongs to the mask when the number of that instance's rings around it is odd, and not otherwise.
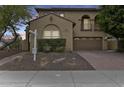
[[[124,6],[101,6],[97,22],[102,31],[114,36],[117,40],[124,38]]]

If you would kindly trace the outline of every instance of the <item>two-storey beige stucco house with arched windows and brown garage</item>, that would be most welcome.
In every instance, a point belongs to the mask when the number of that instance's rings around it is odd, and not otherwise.
[[[66,51],[105,50],[106,34],[96,23],[95,8],[36,8],[39,17],[29,22],[30,30],[38,31],[38,39],[66,39]],[[33,36],[29,36],[30,49]]]

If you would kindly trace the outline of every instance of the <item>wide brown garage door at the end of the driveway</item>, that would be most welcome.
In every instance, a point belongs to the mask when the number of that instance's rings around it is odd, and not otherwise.
[[[74,50],[102,50],[102,38],[74,38]]]

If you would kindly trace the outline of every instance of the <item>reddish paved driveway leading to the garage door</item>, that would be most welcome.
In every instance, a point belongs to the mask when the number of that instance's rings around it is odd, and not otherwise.
[[[112,51],[80,51],[77,53],[96,70],[124,70],[124,53]]]

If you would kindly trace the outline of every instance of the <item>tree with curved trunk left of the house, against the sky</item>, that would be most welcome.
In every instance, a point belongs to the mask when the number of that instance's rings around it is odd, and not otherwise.
[[[3,48],[14,43],[18,38],[19,26],[26,24],[30,18],[27,6],[23,5],[3,5],[0,6],[0,41],[7,31],[10,31],[14,39],[6,43]]]

